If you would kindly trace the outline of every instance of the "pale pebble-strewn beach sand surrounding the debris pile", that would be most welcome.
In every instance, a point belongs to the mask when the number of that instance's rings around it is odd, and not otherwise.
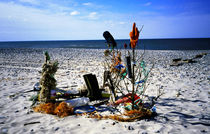
[[[86,73],[96,74],[99,85],[102,85],[104,50],[0,49],[0,134],[210,133],[210,51],[146,51],[145,61],[155,62],[146,94],[156,96],[159,88],[165,94],[157,101],[158,116],[155,119],[125,123],[33,113],[28,100],[32,92],[9,98],[16,92],[33,89],[39,81],[38,71],[45,50],[60,63],[56,74],[59,88],[78,89],[84,85],[83,75]],[[197,59],[197,63],[169,66],[173,58],[192,58],[201,52],[208,55]],[[30,122],[40,123],[24,126]]]

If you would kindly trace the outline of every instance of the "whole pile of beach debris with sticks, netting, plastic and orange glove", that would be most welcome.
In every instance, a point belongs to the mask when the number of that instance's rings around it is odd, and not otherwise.
[[[50,61],[50,56],[45,52],[45,63],[42,67],[38,93],[38,103],[33,106],[35,112],[65,117],[80,115],[96,119],[112,119],[122,122],[130,122],[156,115],[155,102],[163,95],[159,91],[157,97],[145,95],[148,87],[148,78],[154,67],[147,65],[143,55],[135,52],[139,34],[133,24],[130,32],[130,49],[124,44],[124,55],[118,49],[113,36],[105,31],[104,38],[108,49],[104,52],[104,79],[103,89],[99,89],[95,75],[86,74],[84,80],[87,89],[82,92],[71,92],[56,88],[54,75],[58,69],[58,62]],[[36,85],[37,86],[37,85]],[[145,101],[148,98],[147,101]],[[107,114],[107,111],[110,114]]]

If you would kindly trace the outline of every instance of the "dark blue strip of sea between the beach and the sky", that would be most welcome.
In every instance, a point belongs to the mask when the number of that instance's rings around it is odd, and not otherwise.
[[[117,48],[124,49],[129,39],[116,40]],[[59,41],[6,41],[0,48],[85,48],[107,49],[105,40],[59,40]],[[136,49],[145,50],[210,50],[210,38],[139,39]]]

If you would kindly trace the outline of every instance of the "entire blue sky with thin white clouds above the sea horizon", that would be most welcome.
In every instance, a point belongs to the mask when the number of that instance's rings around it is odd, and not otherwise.
[[[0,41],[210,37],[210,0],[0,0]]]

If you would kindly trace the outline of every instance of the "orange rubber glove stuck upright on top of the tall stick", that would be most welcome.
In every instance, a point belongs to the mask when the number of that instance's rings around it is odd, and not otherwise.
[[[131,42],[131,47],[135,48],[136,44],[139,39],[139,31],[138,28],[136,27],[136,23],[133,23],[133,30],[130,32],[130,42]]]

